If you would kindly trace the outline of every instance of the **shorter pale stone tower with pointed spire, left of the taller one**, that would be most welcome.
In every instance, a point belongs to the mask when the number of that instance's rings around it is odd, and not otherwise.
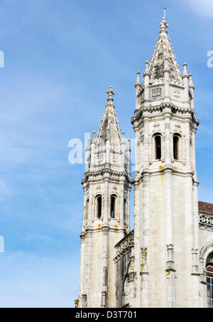
[[[86,149],[80,257],[80,307],[116,306],[114,245],[129,233],[130,146],[108,99],[97,136]]]

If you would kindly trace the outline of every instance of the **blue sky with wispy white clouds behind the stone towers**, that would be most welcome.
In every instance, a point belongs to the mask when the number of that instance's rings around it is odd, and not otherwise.
[[[180,65],[195,82],[199,198],[213,203],[213,4],[203,1],[0,1],[0,306],[72,307],[77,298],[84,164],[68,142],[97,131],[109,85],[133,138],[136,72],[163,7]],[[132,213],[132,205],[131,205]]]

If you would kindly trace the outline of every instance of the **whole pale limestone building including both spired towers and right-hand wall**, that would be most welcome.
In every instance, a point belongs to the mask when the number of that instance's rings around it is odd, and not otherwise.
[[[179,69],[165,18],[143,83],[138,72],[135,87],[134,178],[111,87],[97,136],[88,143],[79,305],[206,307],[213,206],[204,211],[207,204],[198,203],[195,86],[187,64]]]

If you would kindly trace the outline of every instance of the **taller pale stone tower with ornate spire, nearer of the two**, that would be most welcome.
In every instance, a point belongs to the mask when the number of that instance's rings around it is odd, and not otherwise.
[[[192,75],[165,18],[143,84],[136,80],[134,295],[131,307],[199,307],[199,216]]]

